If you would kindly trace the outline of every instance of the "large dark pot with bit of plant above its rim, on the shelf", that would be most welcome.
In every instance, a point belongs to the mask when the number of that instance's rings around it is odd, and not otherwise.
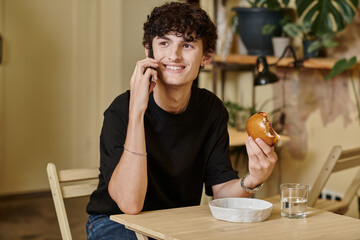
[[[289,0],[247,0],[250,7],[235,7],[237,29],[249,55],[273,55],[270,35],[263,35],[265,24],[274,25],[272,36],[281,35],[280,19]],[[250,27],[251,26],[251,27]]]

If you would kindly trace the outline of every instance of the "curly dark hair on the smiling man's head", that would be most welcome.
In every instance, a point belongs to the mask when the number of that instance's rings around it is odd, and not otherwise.
[[[144,23],[143,45],[151,46],[154,37],[163,37],[169,32],[186,41],[201,39],[206,53],[215,52],[216,27],[209,15],[198,4],[171,2],[155,7]]]

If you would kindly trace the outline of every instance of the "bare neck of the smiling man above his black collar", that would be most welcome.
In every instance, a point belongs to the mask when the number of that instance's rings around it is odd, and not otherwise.
[[[169,113],[183,113],[190,101],[191,86],[164,86],[157,84],[154,89],[154,100],[156,104]]]

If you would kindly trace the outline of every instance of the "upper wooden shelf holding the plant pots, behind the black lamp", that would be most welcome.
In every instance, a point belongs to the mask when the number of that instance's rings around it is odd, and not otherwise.
[[[221,57],[220,55],[214,56],[215,63],[237,63],[237,64],[244,64],[244,65],[255,65],[256,59],[258,56],[250,56],[250,55],[236,55],[231,54],[227,55],[225,58]],[[268,64],[275,63],[278,58],[267,56],[266,60]],[[337,58],[310,58],[302,63],[302,67],[310,68],[310,69],[328,69],[330,70],[334,64],[338,61]],[[276,64],[278,67],[293,67],[294,59],[291,57],[283,58]],[[357,62],[355,66],[360,66],[360,62]]]

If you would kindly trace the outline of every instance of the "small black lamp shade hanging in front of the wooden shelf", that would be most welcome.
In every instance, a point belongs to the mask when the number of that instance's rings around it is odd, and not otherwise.
[[[279,78],[276,76],[276,74],[269,71],[265,56],[260,56],[257,58],[256,70],[258,74],[254,79],[254,86],[266,85],[279,81]]]

